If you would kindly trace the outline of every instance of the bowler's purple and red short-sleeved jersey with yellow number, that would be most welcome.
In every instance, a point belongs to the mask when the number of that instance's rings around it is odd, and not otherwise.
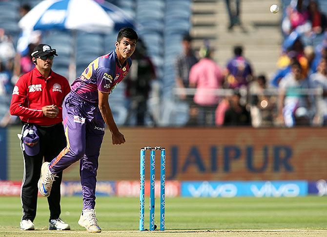
[[[98,105],[98,91],[111,93],[127,75],[131,64],[132,60],[127,58],[124,65],[120,67],[115,51],[100,56],[88,65],[79,78],[75,79],[70,86],[71,93]]]

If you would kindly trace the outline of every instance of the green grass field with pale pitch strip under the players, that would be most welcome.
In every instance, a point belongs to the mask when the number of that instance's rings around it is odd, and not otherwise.
[[[70,224],[72,231],[48,231],[48,204],[45,198],[39,197],[34,220],[36,231],[20,231],[20,198],[0,197],[0,237],[327,237],[327,197],[167,198],[164,233],[138,231],[138,198],[98,197],[100,234],[88,234],[78,225],[81,209],[81,197],[62,197],[61,218]],[[146,228],[148,216],[146,208]],[[159,199],[155,218],[159,226]]]

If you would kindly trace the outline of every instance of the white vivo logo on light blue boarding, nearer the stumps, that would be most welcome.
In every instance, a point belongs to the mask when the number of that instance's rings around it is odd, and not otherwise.
[[[194,187],[193,184],[188,185],[188,191],[192,197],[212,197],[218,196],[224,198],[232,198],[237,194],[237,187],[234,184],[226,183],[218,185],[216,188],[212,187],[209,182],[203,182],[198,188]]]

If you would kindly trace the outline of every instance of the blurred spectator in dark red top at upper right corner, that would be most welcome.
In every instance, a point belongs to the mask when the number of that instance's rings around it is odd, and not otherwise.
[[[326,15],[320,11],[316,0],[310,0],[307,6],[308,19],[311,22],[312,33],[319,35],[326,30],[327,18]]]

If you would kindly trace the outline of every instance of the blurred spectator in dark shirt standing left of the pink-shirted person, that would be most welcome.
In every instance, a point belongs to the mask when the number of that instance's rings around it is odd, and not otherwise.
[[[182,89],[180,93],[180,99],[191,99],[187,98],[184,88],[189,88],[189,72],[191,67],[198,62],[198,59],[193,53],[192,50],[192,38],[188,34],[183,36],[182,39],[183,52],[178,55],[176,63],[175,63],[175,71],[176,71],[176,85],[177,88]],[[193,96],[191,96],[193,97]]]

